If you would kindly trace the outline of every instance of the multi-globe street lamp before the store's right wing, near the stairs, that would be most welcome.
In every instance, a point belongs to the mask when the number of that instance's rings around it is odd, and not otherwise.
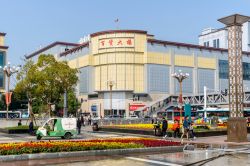
[[[178,73],[171,74],[172,77],[177,79],[180,85],[180,95],[179,95],[179,108],[180,108],[180,123],[182,123],[182,81],[188,78],[188,73],[182,73],[181,70],[179,70]]]

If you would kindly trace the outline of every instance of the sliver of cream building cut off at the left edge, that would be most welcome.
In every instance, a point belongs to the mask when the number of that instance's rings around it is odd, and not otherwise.
[[[4,44],[4,38],[6,33],[0,32],[0,66],[4,66],[6,64],[6,56],[7,56],[7,50],[8,46],[5,46]],[[0,70],[0,92],[5,92],[5,79],[3,71]]]

